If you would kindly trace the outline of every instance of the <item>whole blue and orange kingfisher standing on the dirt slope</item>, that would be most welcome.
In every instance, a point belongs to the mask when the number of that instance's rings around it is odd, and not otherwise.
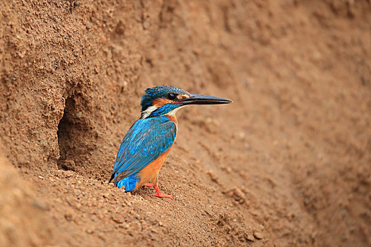
[[[153,196],[170,198],[158,188],[158,172],[175,143],[177,118],[182,107],[191,104],[228,104],[231,100],[196,95],[172,86],[147,88],[141,100],[141,118],[124,136],[114,162],[112,181],[125,192],[153,187]],[[151,182],[151,183],[150,183]]]

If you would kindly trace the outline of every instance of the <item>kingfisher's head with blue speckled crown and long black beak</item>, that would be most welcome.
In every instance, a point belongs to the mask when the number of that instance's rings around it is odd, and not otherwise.
[[[141,100],[141,119],[153,116],[174,115],[189,104],[228,104],[232,100],[208,95],[196,95],[172,86],[147,88]]]

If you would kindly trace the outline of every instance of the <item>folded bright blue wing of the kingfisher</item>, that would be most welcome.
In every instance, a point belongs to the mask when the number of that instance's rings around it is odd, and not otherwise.
[[[176,135],[175,122],[166,116],[136,121],[122,140],[110,181],[116,183],[151,164],[169,150]]]

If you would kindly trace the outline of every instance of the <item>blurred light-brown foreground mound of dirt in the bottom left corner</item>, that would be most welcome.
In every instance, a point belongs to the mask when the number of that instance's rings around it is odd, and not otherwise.
[[[30,181],[0,157],[0,245],[45,246],[53,243],[47,203],[38,200]]]

